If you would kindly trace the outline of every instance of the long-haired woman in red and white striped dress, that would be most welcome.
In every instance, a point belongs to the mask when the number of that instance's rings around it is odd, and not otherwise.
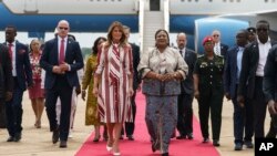
[[[100,46],[93,85],[93,94],[98,95],[101,122],[106,123],[107,127],[106,149],[113,149],[113,155],[120,155],[119,138],[122,124],[132,121],[132,48],[126,42],[122,23],[115,21],[109,29],[107,41]]]

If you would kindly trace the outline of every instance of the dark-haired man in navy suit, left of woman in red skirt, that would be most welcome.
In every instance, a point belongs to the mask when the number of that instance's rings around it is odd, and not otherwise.
[[[28,87],[31,87],[32,70],[29,60],[28,46],[16,41],[17,29],[13,25],[6,28],[6,45],[9,49],[12,66],[13,92],[12,98],[6,103],[7,128],[9,138],[7,142],[19,142],[22,132],[22,96]]]

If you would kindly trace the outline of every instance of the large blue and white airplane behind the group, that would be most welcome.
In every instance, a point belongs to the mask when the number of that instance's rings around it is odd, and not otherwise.
[[[62,19],[70,22],[71,32],[106,32],[120,21],[140,33],[142,51],[154,45],[157,29],[165,29],[186,32],[187,46],[203,53],[201,41],[213,30],[233,45],[239,29],[261,19],[269,21],[270,37],[277,39],[276,12],[276,0],[0,0],[0,29],[12,24],[43,39]]]

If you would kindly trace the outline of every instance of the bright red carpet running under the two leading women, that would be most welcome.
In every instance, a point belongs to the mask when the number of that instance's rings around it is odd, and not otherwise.
[[[150,136],[144,122],[145,98],[138,93],[136,95],[136,121],[135,121],[135,141],[127,139],[120,142],[122,156],[158,156],[160,152],[152,153]],[[105,149],[106,142],[93,143],[94,133],[86,139],[75,156],[111,156]],[[214,146],[202,144],[202,135],[198,121],[194,117],[194,139],[172,139],[170,145],[171,156],[219,156]]]

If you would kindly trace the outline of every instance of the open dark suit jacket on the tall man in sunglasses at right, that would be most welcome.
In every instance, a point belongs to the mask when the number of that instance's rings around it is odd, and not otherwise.
[[[271,45],[277,44],[276,41],[271,41]],[[253,98],[255,91],[255,76],[259,61],[259,48],[258,42],[253,41],[246,45],[243,62],[242,72],[238,85],[238,95],[243,95],[248,98]]]

